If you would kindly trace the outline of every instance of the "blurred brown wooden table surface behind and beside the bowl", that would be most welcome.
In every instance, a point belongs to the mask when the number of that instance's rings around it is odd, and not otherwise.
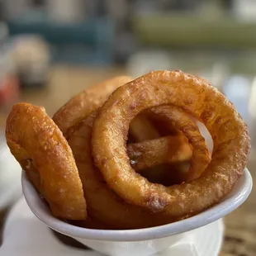
[[[105,68],[90,69],[58,66],[50,73],[49,84],[42,90],[30,90],[22,92],[21,101],[31,102],[44,106],[47,113],[52,116],[70,97],[84,88],[102,82],[102,80],[125,74],[125,69]],[[6,114],[0,114],[0,127],[5,126]],[[253,178],[256,176],[256,126],[250,130],[252,137],[252,153],[250,155],[248,168]],[[225,242],[221,256],[253,256],[256,255],[256,189],[249,199],[239,209],[225,217]],[[4,213],[0,213],[0,231],[4,220]],[[0,232],[1,233],[1,232]],[[0,235],[1,237],[1,235]]]

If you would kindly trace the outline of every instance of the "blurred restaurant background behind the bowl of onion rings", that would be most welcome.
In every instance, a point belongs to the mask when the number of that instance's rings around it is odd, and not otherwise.
[[[88,86],[154,69],[201,75],[235,103],[249,125],[255,176],[256,1],[0,0],[0,220],[21,196],[4,138],[14,102],[52,116]],[[226,218],[221,255],[256,255],[255,194]]]

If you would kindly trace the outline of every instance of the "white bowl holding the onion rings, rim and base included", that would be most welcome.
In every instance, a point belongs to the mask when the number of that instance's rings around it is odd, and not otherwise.
[[[249,197],[253,186],[252,177],[247,168],[239,178],[232,192],[218,205],[201,212],[197,216],[180,220],[172,224],[138,230],[90,230],[70,225],[51,215],[35,188],[22,173],[22,188],[31,211],[51,229],[111,256],[150,255],[167,249],[171,244],[183,239],[184,232],[210,224],[234,211]]]

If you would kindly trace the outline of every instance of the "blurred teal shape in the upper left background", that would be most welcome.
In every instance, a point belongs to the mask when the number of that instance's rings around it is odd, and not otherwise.
[[[108,17],[62,24],[50,22],[43,15],[30,15],[9,21],[8,26],[11,36],[43,36],[54,46],[53,59],[57,62],[111,64],[114,59],[115,22]]]

